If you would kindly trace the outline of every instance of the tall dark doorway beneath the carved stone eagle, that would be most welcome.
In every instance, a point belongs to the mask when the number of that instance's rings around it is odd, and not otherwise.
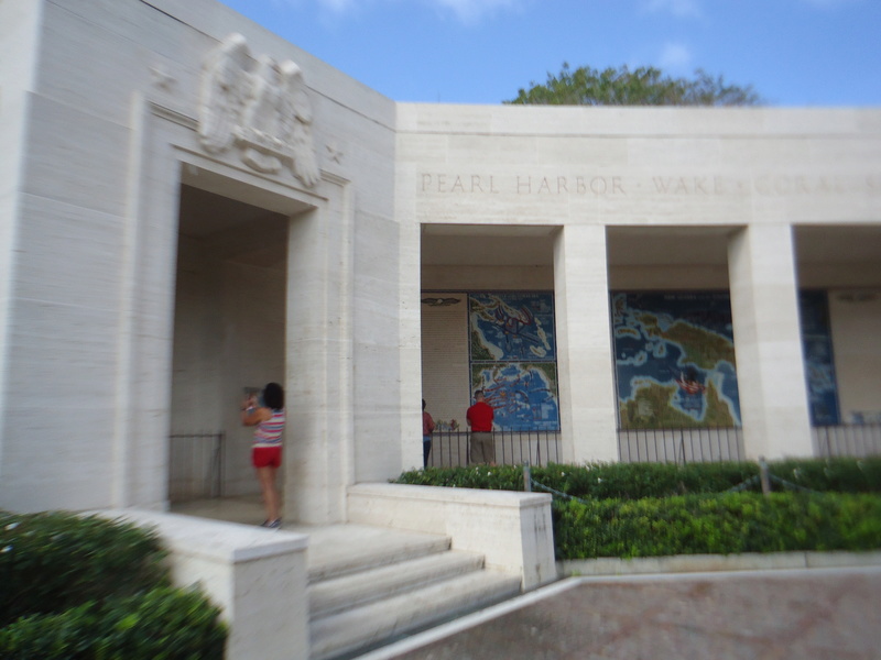
[[[239,405],[285,383],[290,219],[187,184],[180,200],[168,498],[257,494]]]

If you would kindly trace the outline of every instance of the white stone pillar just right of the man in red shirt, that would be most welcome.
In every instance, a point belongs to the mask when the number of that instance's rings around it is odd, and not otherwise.
[[[554,243],[563,460],[617,461],[606,228],[567,226]]]

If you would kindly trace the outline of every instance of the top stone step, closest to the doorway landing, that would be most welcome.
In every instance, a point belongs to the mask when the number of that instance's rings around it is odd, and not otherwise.
[[[445,552],[449,538],[358,525],[339,525],[309,536],[308,582]]]

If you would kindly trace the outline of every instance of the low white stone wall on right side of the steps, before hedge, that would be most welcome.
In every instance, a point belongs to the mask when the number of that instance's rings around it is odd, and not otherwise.
[[[447,536],[486,566],[518,574],[524,591],[557,579],[551,495],[406,484],[348,490],[349,522]]]

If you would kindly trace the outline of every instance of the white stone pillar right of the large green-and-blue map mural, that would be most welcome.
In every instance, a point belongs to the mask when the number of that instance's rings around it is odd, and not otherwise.
[[[728,268],[747,457],[813,455],[790,226],[739,230]]]

